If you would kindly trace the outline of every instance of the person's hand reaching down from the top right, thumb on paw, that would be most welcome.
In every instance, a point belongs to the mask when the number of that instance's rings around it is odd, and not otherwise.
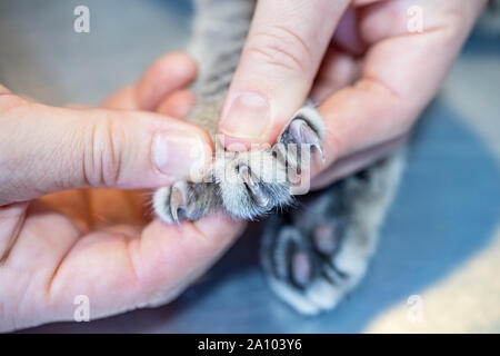
[[[311,96],[328,167],[313,187],[387,155],[436,95],[484,3],[258,1],[219,125],[226,147],[274,142]],[[422,32],[409,31],[419,20]]]

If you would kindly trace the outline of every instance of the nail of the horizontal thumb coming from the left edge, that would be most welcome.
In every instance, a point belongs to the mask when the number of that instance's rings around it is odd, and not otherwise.
[[[203,142],[192,134],[172,130],[153,138],[152,160],[166,175],[191,177],[204,167]]]

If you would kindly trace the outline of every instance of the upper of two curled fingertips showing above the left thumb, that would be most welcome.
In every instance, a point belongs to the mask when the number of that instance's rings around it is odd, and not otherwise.
[[[121,89],[101,106],[109,109],[152,111],[166,96],[189,85],[197,71],[197,63],[188,55],[166,55],[144,71],[137,85]]]

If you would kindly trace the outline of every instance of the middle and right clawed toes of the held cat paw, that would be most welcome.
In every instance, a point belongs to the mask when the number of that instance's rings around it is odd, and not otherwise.
[[[310,154],[318,152],[324,162],[323,135],[324,126],[318,111],[304,106],[273,147],[228,152],[226,159],[216,159],[214,177],[226,211],[252,220],[273,208],[290,205],[291,188],[304,165],[310,165]]]

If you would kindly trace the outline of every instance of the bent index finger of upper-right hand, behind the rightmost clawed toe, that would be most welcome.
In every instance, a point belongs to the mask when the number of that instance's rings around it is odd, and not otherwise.
[[[411,6],[426,13],[421,33],[408,32]],[[384,1],[367,8],[361,33],[371,48],[362,77],[320,107],[328,162],[409,130],[436,95],[479,10],[478,2],[467,0]]]

